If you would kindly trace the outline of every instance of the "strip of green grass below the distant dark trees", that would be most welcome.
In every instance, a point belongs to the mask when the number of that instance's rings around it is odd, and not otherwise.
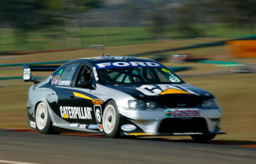
[[[227,28],[223,24],[193,25],[201,32],[195,37],[238,37],[251,35],[247,29]],[[186,38],[173,26],[166,26],[161,38],[155,38],[151,27],[105,27],[109,46],[154,42],[157,39],[170,40]],[[30,31],[26,37],[16,35],[13,29],[0,30],[0,52],[34,51],[66,48],[89,48],[90,45],[106,47],[102,28],[54,28],[48,31]]]

